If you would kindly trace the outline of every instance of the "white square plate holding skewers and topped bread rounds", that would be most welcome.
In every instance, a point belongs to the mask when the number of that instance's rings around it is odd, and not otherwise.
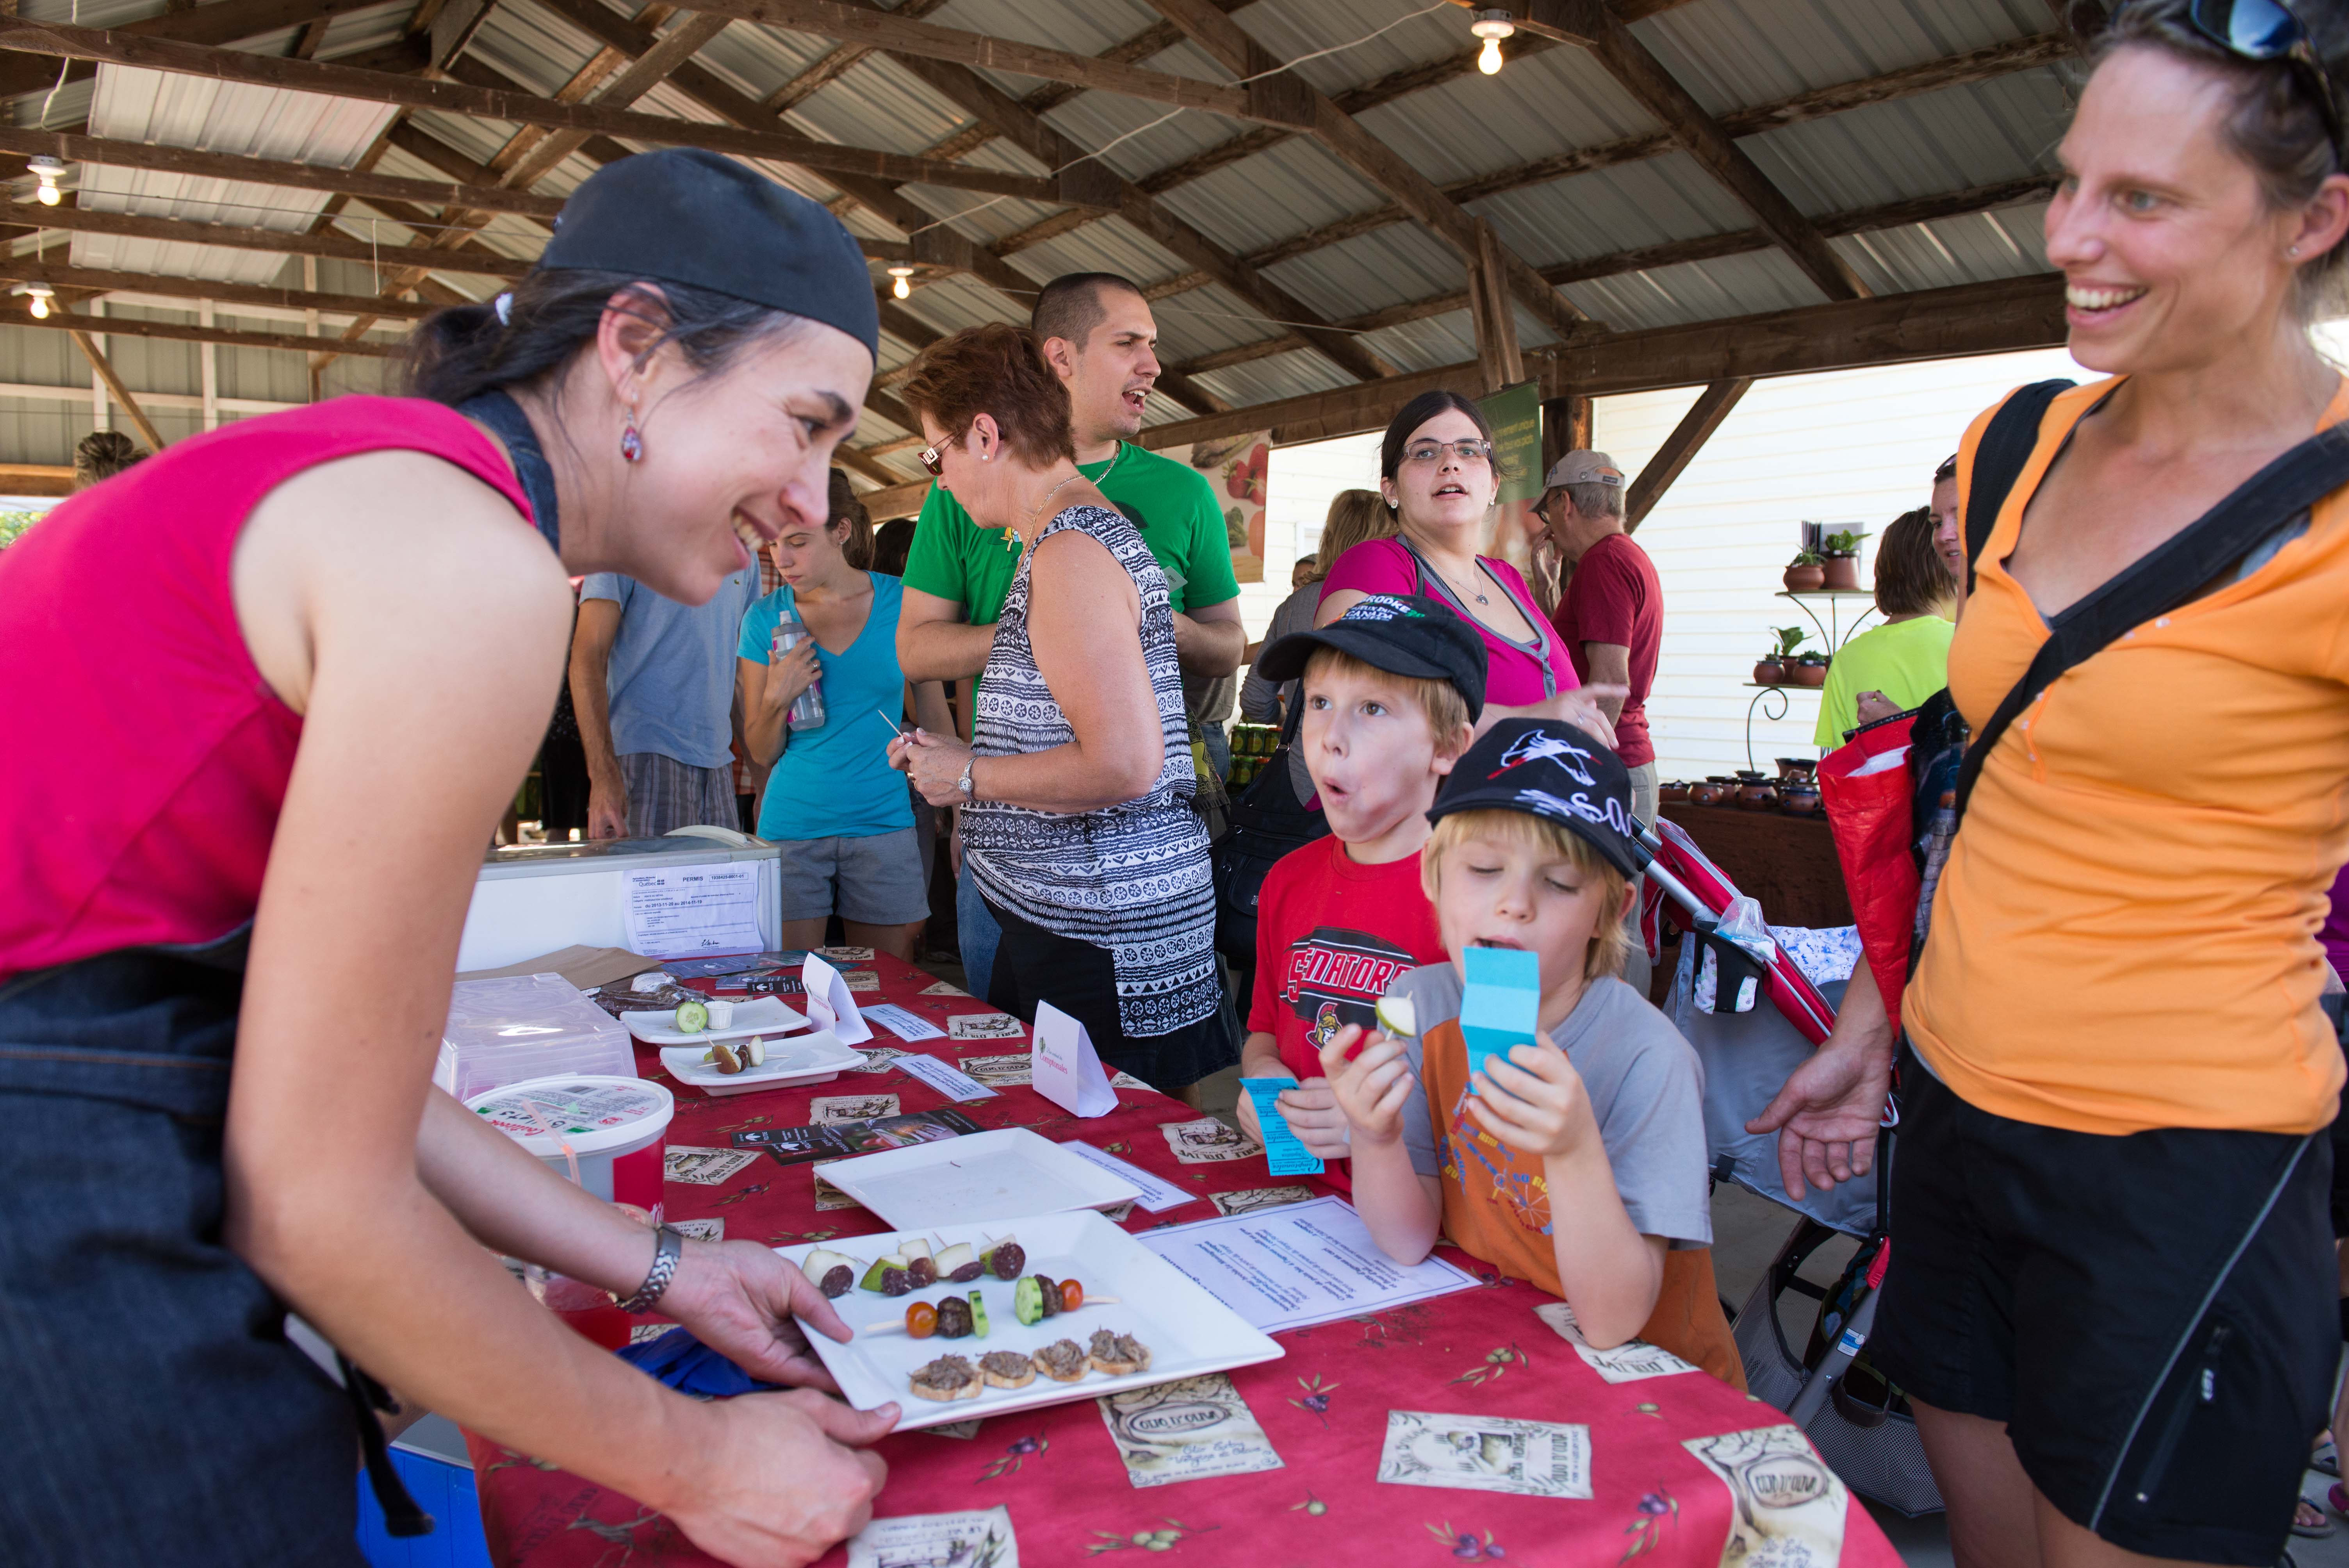
[[[970,1138],[956,1138],[968,1143]],[[841,1167],[824,1167],[829,1181]],[[874,1258],[897,1249],[900,1237],[914,1232],[848,1237],[824,1242],[857,1261],[857,1275]],[[1085,1296],[1116,1296],[1118,1305],[1083,1305],[1076,1312],[1048,1317],[1024,1326],[1012,1317],[1012,1282],[982,1275],[970,1284],[933,1284],[909,1296],[881,1296],[850,1286],[834,1300],[841,1317],[855,1331],[846,1345],[822,1333],[808,1331],[808,1343],[824,1359],[824,1366],[841,1385],[848,1404],[860,1411],[895,1401],[904,1408],[897,1432],[937,1427],[951,1420],[980,1420],[1010,1411],[1034,1411],[1048,1404],[1095,1399],[1125,1387],[1149,1387],[1174,1378],[1198,1378],[1233,1366],[1276,1361],[1285,1352],[1268,1336],[1250,1329],[1238,1312],[1219,1303],[1207,1291],[1184,1279],[1149,1246],[1125,1235],[1099,1214],[1045,1214],[1017,1218],[1008,1225],[942,1225],[923,1232],[933,1249],[954,1242],[970,1242],[972,1249],[994,1237],[1012,1235],[1027,1249],[1027,1275],[1050,1275],[1052,1279],[1076,1279]],[[799,1263],[813,1246],[778,1246],[778,1253]],[[982,1291],[987,1303],[987,1338],[916,1340],[904,1333],[907,1303],[937,1303],[947,1296],[970,1296]],[[890,1324],[888,1333],[867,1333],[871,1324]],[[984,1387],[977,1399],[921,1399],[911,1392],[914,1368],[937,1357],[956,1354],[977,1366],[989,1350],[1036,1352],[1052,1340],[1076,1340],[1083,1347],[1095,1329],[1130,1333],[1151,1350],[1151,1364],[1137,1373],[1111,1378],[1088,1371],[1076,1383],[1055,1383],[1043,1373],[1027,1387]]]

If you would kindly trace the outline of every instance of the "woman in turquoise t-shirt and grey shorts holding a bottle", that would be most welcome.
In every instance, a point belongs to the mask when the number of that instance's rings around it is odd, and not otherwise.
[[[773,545],[782,587],[742,615],[735,685],[742,739],[770,765],[759,803],[759,838],[782,845],[782,946],[824,941],[834,913],[848,941],[914,960],[930,918],[914,807],[904,775],[888,765],[888,742],[907,709],[947,732],[947,692],[923,681],[907,692],[897,669],[897,577],[867,570],[874,528],[841,472],[832,474],[832,519],[787,526]],[[810,631],[773,657],[785,610]],[[822,681],[824,721],[792,730],[789,711]]]

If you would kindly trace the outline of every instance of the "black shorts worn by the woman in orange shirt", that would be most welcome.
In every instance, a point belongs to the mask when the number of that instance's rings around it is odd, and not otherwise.
[[[2274,1563],[2340,1354],[2328,1136],[2037,1127],[1914,1056],[1900,1101],[1877,1368],[2116,1547]]]

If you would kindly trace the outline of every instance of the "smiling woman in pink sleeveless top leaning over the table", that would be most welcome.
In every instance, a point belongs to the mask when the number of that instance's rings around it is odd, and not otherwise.
[[[512,293],[418,329],[420,397],[188,439],[0,554],[0,1408],[38,1432],[0,1474],[12,1563],[357,1563],[369,1380],[319,1376],[289,1307],[728,1561],[862,1528],[883,1465],[853,1444],[895,1411],[695,1404],[496,1253],[787,1385],[822,1383],[794,1312],[846,1338],[824,1298],[763,1246],[648,1235],[430,1073],[566,577],[705,603],[820,521],[876,340],[822,207],[644,153]],[[430,1528],[385,1479],[395,1533]]]

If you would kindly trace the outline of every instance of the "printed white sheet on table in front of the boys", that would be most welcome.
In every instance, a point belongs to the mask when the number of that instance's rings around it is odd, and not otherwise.
[[[1135,1237],[1264,1333],[1473,1291],[1442,1258],[1402,1268],[1344,1197],[1245,1209]]]

